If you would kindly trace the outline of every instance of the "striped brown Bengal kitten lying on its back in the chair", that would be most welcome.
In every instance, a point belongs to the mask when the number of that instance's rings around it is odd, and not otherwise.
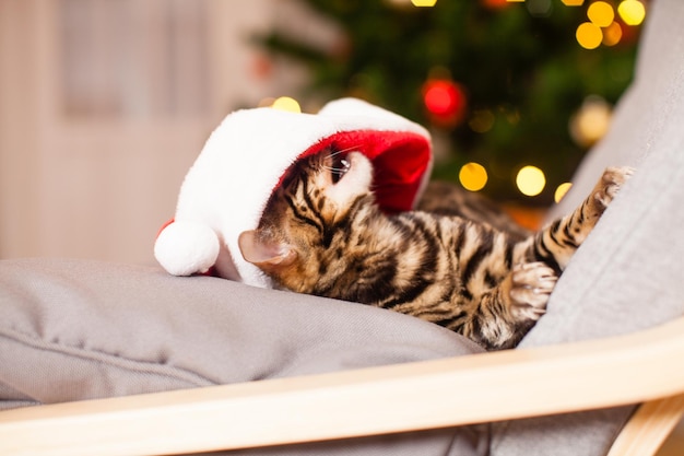
[[[326,150],[288,169],[239,247],[275,288],[389,308],[490,350],[510,348],[544,314],[558,274],[630,174],[608,168],[573,213],[521,238],[456,215],[386,214],[370,161]]]

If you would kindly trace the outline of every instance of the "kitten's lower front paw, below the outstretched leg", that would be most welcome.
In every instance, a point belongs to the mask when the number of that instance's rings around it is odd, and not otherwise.
[[[558,277],[541,261],[516,265],[510,277],[511,315],[518,320],[536,321],[546,312],[549,296]]]

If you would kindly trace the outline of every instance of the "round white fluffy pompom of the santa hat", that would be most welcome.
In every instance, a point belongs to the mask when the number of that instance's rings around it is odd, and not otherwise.
[[[204,273],[219,257],[216,233],[205,224],[174,221],[162,230],[154,244],[154,257],[174,276]]]

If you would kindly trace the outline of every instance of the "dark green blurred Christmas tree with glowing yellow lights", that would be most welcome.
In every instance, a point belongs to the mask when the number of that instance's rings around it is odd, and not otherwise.
[[[639,0],[305,2],[340,26],[337,46],[260,40],[308,66],[305,105],[356,96],[397,112],[433,132],[436,177],[530,204],[551,202],[604,131],[645,14]]]

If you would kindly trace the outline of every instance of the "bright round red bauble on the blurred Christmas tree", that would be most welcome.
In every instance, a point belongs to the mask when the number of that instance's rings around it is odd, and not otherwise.
[[[423,103],[431,120],[440,127],[455,127],[465,114],[465,93],[451,80],[428,80],[423,85]]]

